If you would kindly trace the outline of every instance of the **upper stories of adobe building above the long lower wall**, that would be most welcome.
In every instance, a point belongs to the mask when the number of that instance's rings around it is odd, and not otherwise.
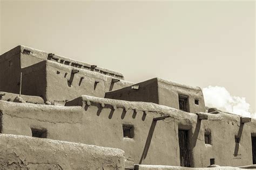
[[[121,73],[22,45],[2,54],[0,66],[0,91],[19,94],[22,84],[23,95],[41,96],[45,102],[65,103],[89,95],[205,112],[199,87],[159,78],[134,84]]]

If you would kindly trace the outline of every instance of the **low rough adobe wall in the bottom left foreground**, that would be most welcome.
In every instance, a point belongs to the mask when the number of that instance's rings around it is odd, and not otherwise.
[[[0,134],[0,169],[124,169],[124,151]]]

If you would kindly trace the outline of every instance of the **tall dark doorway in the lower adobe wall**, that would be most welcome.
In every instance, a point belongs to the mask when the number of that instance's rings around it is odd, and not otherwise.
[[[180,166],[191,167],[187,130],[179,130],[179,157],[180,157]]]

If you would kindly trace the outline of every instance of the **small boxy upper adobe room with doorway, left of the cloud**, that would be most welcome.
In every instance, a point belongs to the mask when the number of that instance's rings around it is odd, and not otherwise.
[[[110,91],[105,94],[105,98],[153,102],[179,109],[179,95],[184,95],[188,97],[189,112],[205,112],[203,92],[198,87],[189,87],[159,78],[140,82],[132,86],[139,86],[139,89],[136,90],[132,89],[132,87],[126,87],[116,91]],[[198,105],[195,104],[195,100],[199,101]]]

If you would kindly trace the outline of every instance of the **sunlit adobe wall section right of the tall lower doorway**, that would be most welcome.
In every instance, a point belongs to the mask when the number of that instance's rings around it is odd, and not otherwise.
[[[211,144],[205,144],[205,131],[211,133]],[[210,159],[221,166],[252,164],[251,123],[240,125],[239,116],[208,114],[208,121],[198,121],[189,136],[194,167],[209,166]],[[235,136],[240,137],[239,144]]]

